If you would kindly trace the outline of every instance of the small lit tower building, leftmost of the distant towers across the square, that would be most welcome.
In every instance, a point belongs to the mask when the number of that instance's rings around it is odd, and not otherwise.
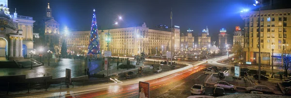
[[[192,36],[193,30],[187,30],[188,33],[182,34],[180,36],[180,48],[182,50],[188,50],[189,48],[194,48],[194,36]]]

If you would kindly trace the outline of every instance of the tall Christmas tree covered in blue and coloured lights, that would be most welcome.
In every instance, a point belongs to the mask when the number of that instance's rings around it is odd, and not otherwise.
[[[89,46],[88,46],[87,55],[100,54],[100,46],[99,46],[99,38],[98,38],[98,30],[97,30],[95,9],[93,11],[94,11],[94,13],[93,13],[91,32],[90,32],[90,40],[89,40]]]

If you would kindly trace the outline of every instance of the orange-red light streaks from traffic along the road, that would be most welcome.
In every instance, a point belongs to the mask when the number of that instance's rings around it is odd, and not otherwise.
[[[146,81],[150,83],[150,91],[158,89],[162,86],[166,86],[172,84],[174,82],[180,81],[191,74],[194,74],[197,71],[206,68],[206,65],[198,65],[187,70],[183,70],[162,78]],[[118,86],[113,85],[110,86],[107,90],[97,91],[97,92],[90,92],[90,94],[82,93],[75,95],[77,98],[123,98],[123,97],[134,97],[138,96],[138,83],[125,85],[125,86]],[[68,95],[65,96],[66,98],[73,98],[73,96]]]

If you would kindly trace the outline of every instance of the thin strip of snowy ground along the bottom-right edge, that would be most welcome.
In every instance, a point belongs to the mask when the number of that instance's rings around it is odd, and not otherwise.
[[[268,94],[234,94],[217,98],[291,98],[291,96],[268,95]]]

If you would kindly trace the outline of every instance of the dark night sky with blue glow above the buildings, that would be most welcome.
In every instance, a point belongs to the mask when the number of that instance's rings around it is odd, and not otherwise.
[[[147,27],[171,26],[170,12],[173,9],[173,25],[180,26],[181,33],[189,28],[201,33],[208,26],[212,41],[218,40],[221,28],[232,34],[235,26],[243,28],[240,11],[253,7],[254,0],[8,0],[10,13],[15,8],[20,16],[32,16],[40,20],[50,3],[52,16],[61,25],[70,29],[87,31],[91,28],[93,9],[96,10],[100,29],[112,28],[114,19],[123,17],[117,27],[133,27],[146,22]]]

